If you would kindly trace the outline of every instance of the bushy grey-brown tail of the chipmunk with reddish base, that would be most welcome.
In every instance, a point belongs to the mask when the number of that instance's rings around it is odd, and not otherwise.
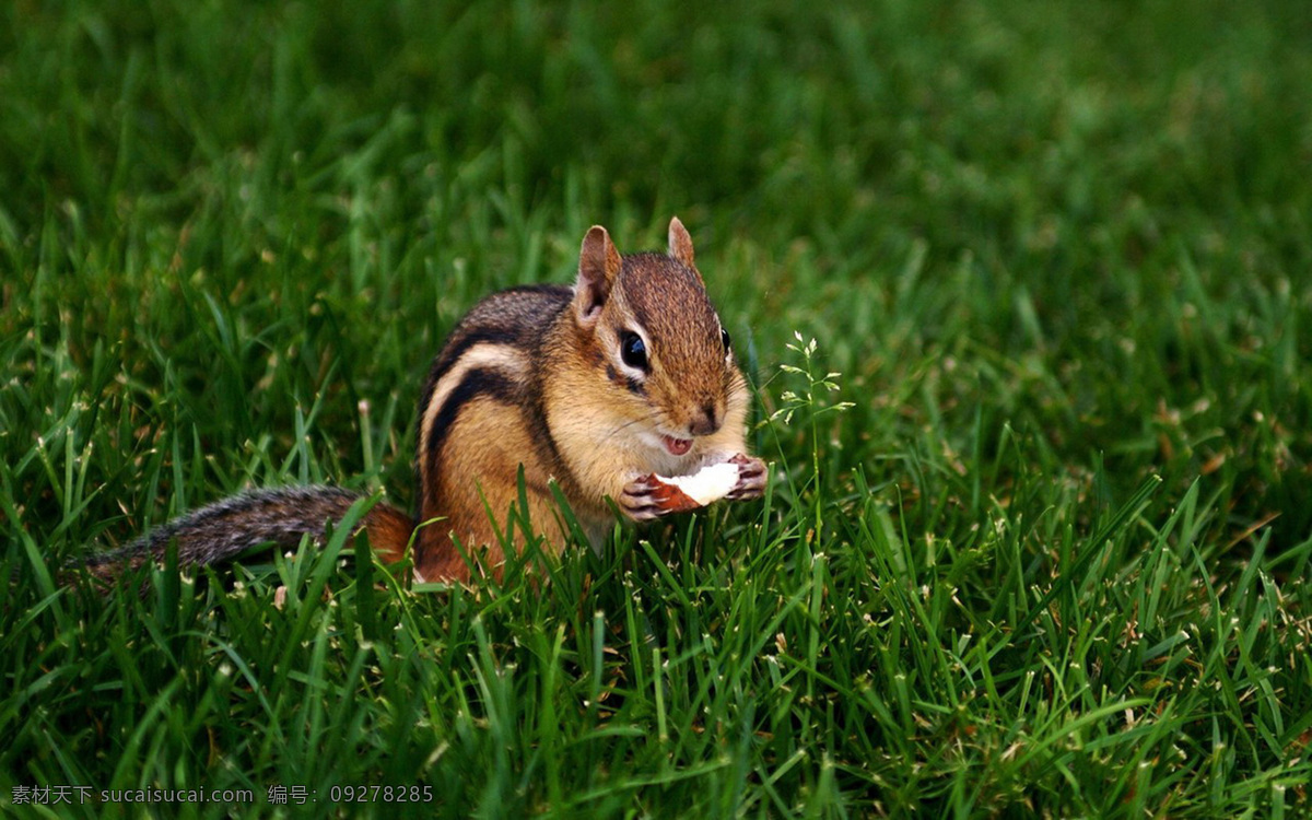
[[[260,544],[295,547],[304,535],[321,537],[328,522],[336,526],[358,499],[337,487],[256,489],[174,518],[121,550],[92,555],[85,565],[92,575],[112,580],[125,568],[163,559],[174,541],[181,564],[216,564]],[[415,529],[409,516],[375,504],[362,523],[374,552],[400,560]]]

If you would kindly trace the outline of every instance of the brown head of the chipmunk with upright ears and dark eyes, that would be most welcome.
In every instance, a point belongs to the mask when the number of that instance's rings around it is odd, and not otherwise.
[[[606,228],[593,226],[572,310],[617,415],[652,447],[682,457],[697,438],[743,424],[743,374],[678,218],[669,223],[668,253],[621,256]]]

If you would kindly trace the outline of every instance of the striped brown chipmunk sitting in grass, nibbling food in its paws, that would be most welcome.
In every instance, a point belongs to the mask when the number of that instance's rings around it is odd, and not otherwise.
[[[600,548],[617,508],[634,521],[686,508],[670,504],[657,474],[732,463],[727,497],[761,496],[766,470],[747,451],[747,382],[684,223],[670,219],[668,253],[626,256],[593,226],[573,287],[512,287],[455,325],[420,399],[416,516],[377,504],[362,527],[386,560],[409,548],[419,581],[470,581],[458,544],[497,573],[505,555],[493,520],[518,504],[522,468],[526,512],[554,551],[568,533],[552,483]],[[357,497],[332,487],[243,493],[93,556],[88,568],[113,577],[160,559],[173,541],[184,564],[297,546],[341,521]],[[522,534],[513,543],[522,548]]]

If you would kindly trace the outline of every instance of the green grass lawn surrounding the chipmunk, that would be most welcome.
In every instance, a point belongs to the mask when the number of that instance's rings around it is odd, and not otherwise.
[[[0,4],[4,813],[1309,811],[1303,4],[464,5]],[[59,585],[245,487],[409,505],[461,314],[670,214],[765,502],[541,586]]]

